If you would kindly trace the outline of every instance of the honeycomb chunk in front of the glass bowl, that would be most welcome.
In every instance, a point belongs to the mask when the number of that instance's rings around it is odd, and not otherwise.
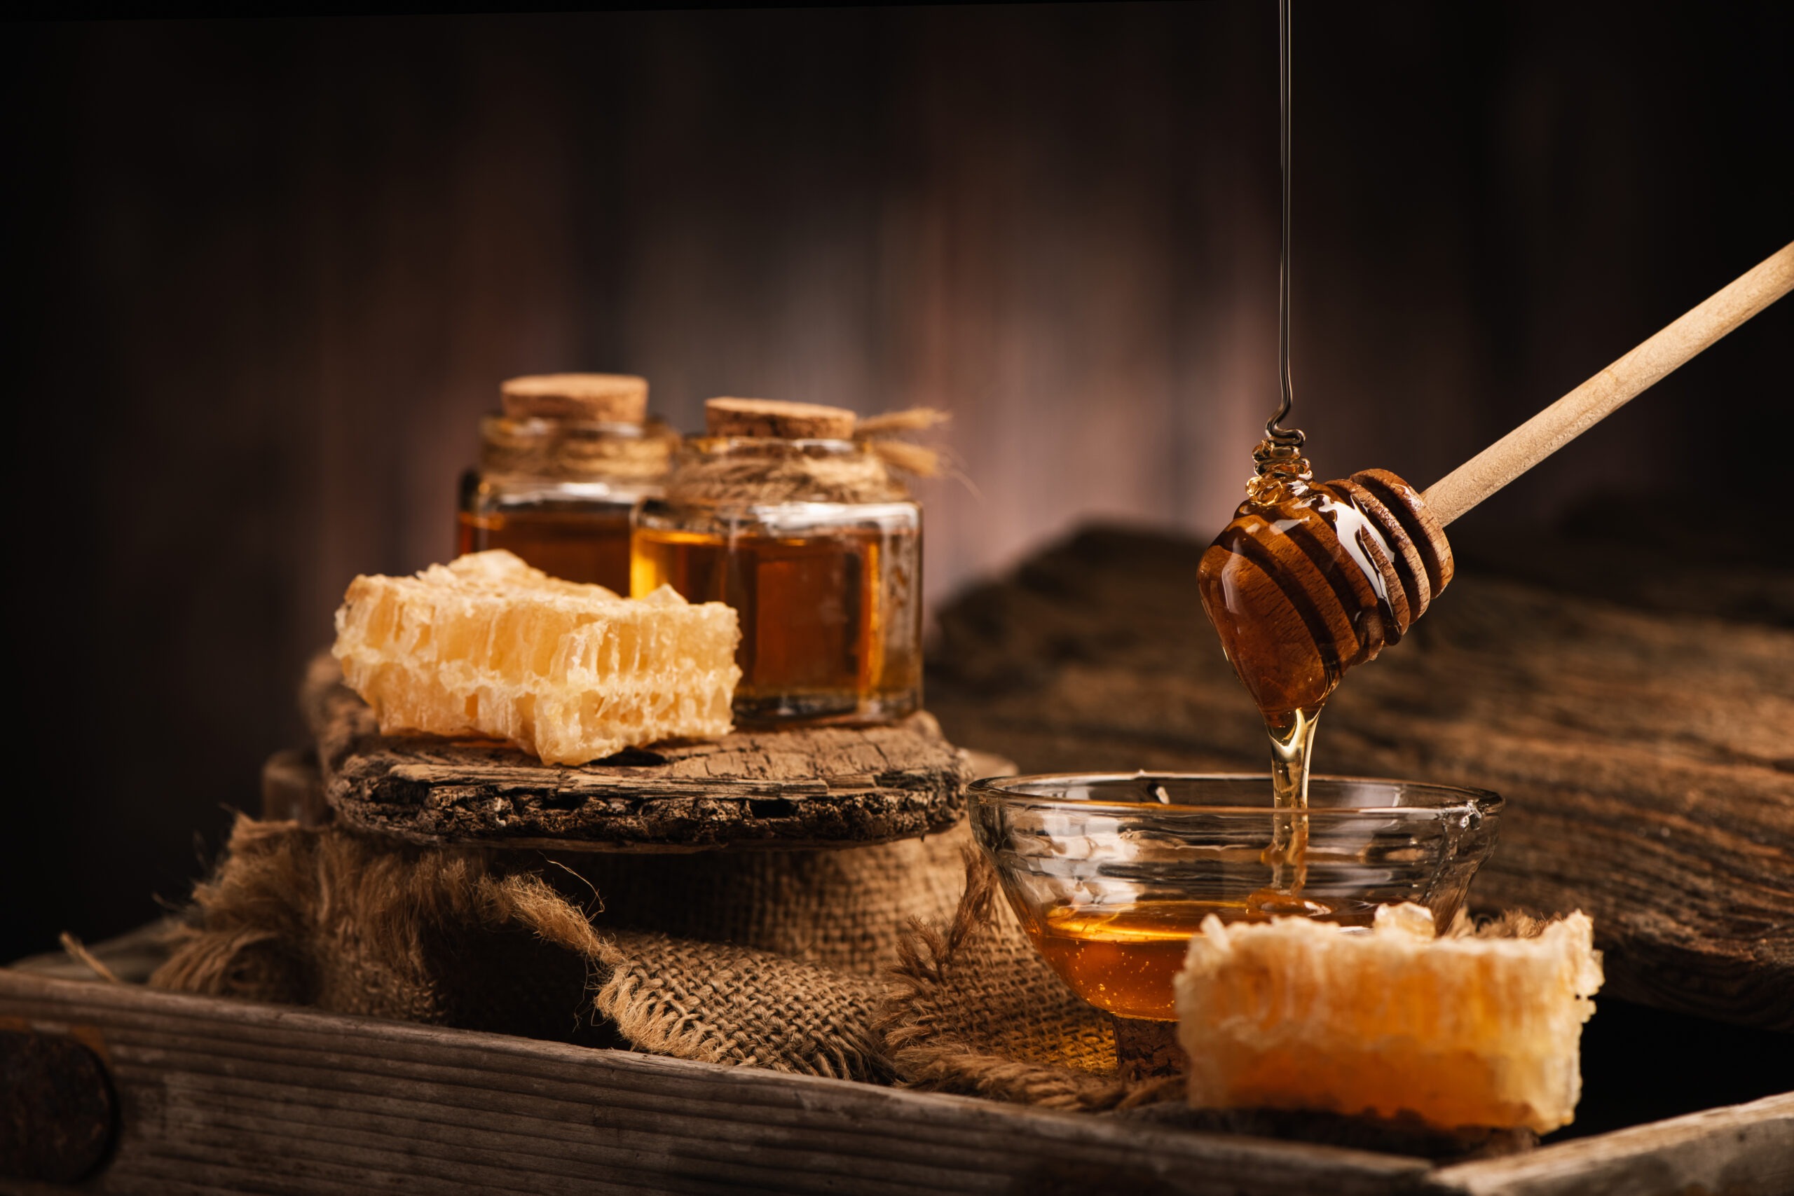
[[[1211,914],[1175,986],[1191,1105],[1545,1133],[1582,1092],[1600,958],[1582,913],[1534,938],[1435,938],[1419,906],[1369,932]]]

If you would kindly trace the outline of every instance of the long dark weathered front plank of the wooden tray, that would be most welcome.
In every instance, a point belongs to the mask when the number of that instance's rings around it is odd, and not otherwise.
[[[1426,1164],[0,972],[120,1101],[95,1192],[1412,1191]],[[5,1191],[29,1185],[0,1180]]]

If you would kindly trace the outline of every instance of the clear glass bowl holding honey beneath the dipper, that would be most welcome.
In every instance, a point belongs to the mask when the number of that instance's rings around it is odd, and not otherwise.
[[[1277,809],[1267,775],[1060,773],[971,787],[972,832],[1023,931],[1091,1004],[1173,1020],[1171,977],[1202,920],[1371,925],[1414,902],[1444,929],[1494,848],[1502,798],[1313,776]]]

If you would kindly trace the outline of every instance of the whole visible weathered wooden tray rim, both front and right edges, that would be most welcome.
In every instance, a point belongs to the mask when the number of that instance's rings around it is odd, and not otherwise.
[[[1433,1166],[5,968],[0,1076],[4,1192],[1794,1189],[1794,1094]]]

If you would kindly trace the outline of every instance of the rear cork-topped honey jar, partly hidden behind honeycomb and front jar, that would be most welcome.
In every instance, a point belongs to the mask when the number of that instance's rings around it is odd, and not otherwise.
[[[657,497],[673,455],[631,375],[511,378],[479,421],[479,468],[461,481],[457,552],[509,549],[545,574],[630,592],[630,515]]]

